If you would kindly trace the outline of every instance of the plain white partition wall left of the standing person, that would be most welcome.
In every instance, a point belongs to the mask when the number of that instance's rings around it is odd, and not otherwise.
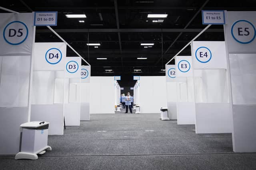
[[[91,76],[90,114],[114,113],[114,81],[112,76]]]

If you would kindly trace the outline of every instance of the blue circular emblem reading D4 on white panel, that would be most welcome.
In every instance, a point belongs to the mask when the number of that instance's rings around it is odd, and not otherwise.
[[[59,53],[60,56],[58,55]],[[48,49],[45,53],[45,59],[49,64],[58,64],[62,59],[62,53],[57,48]]]

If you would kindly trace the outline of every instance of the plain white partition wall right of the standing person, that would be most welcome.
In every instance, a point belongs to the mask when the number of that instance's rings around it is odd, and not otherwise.
[[[160,108],[166,107],[165,76],[140,76],[138,87],[140,113],[160,113]]]

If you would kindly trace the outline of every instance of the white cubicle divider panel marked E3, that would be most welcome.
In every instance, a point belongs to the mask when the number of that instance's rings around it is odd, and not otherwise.
[[[175,59],[177,82],[177,123],[195,124],[194,81],[191,56],[177,56]]]

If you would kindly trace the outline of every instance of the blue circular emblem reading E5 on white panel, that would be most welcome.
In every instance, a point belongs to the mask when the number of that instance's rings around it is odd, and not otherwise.
[[[231,27],[232,37],[241,44],[248,44],[255,39],[255,26],[247,20],[238,20]]]

